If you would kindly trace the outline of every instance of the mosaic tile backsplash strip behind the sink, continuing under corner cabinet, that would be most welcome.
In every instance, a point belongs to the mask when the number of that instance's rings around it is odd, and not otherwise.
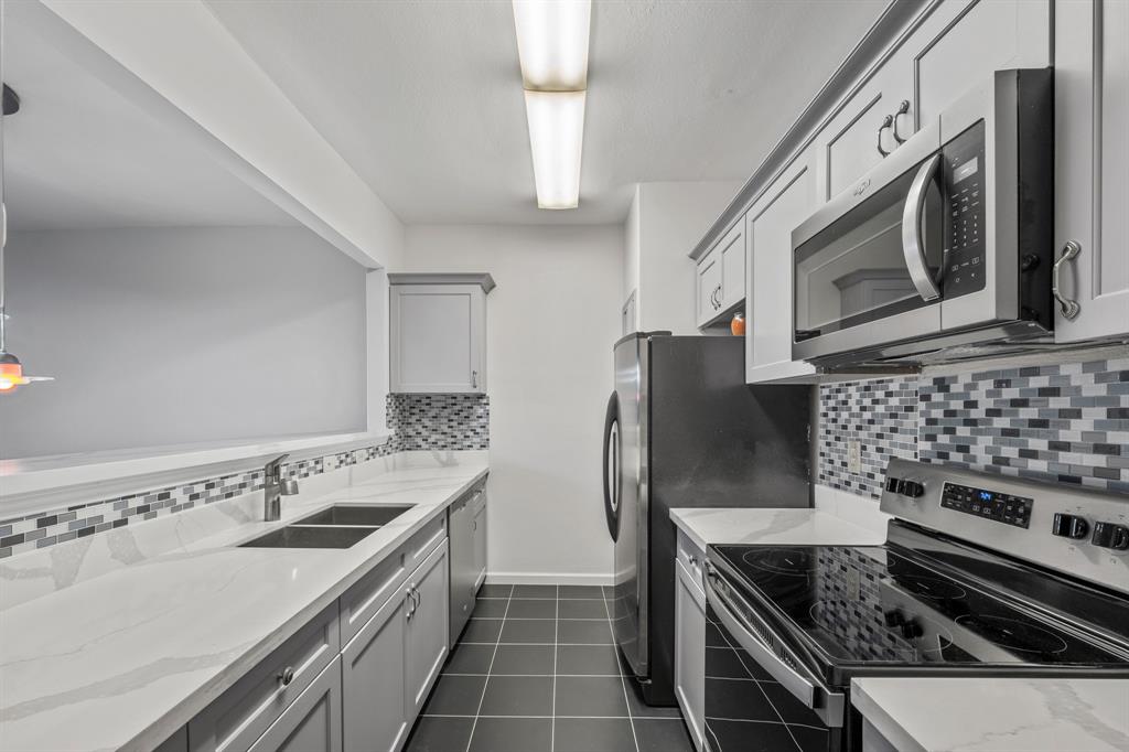
[[[490,402],[480,394],[391,394],[383,444],[288,463],[288,478],[303,479],[412,449],[485,449]],[[0,519],[0,559],[96,535],[129,524],[231,499],[263,488],[261,467],[71,505],[64,509]]]

